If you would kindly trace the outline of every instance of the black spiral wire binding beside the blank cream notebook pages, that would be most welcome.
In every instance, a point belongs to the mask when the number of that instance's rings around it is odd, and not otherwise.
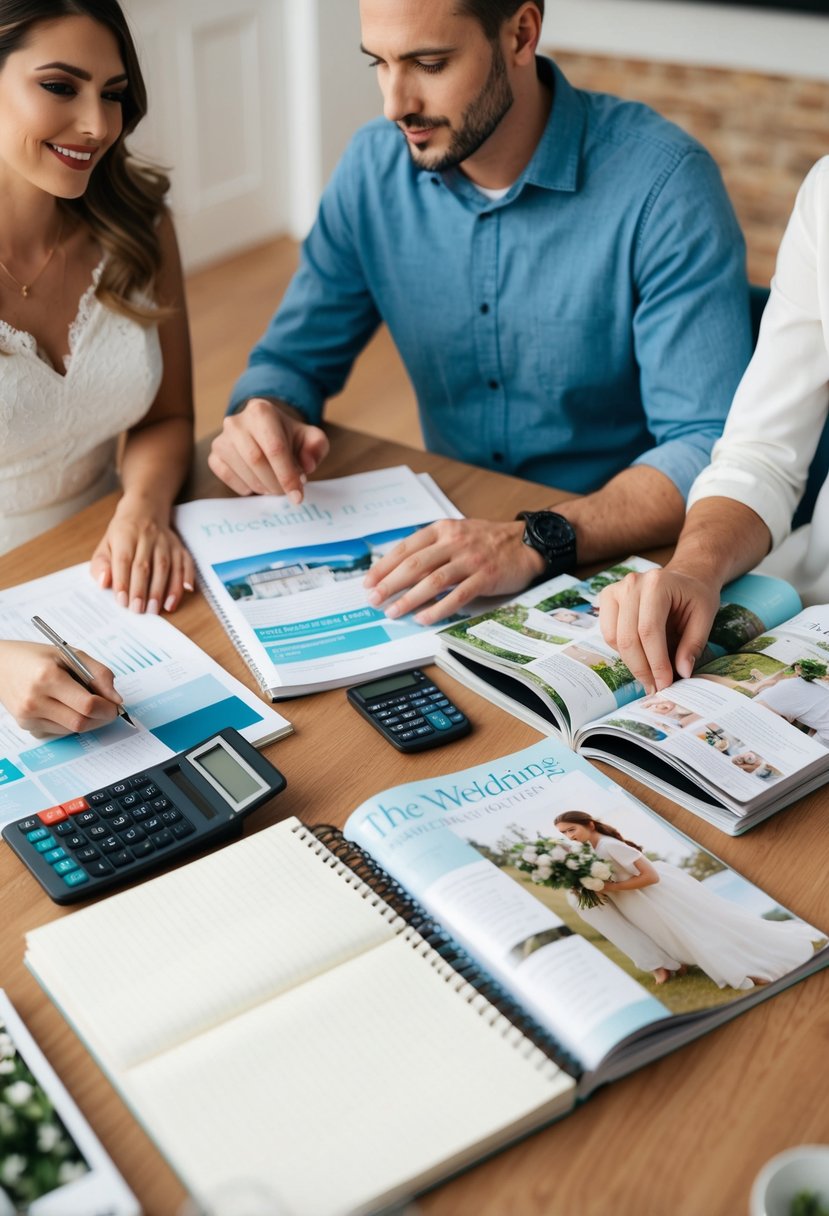
[[[349,873],[354,874],[365,888],[366,897],[376,906],[382,908],[385,905],[391,912],[387,919],[394,924],[405,923],[405,935],[418,952],[425,956],[434,951],[442,964],[436,967],[438,973],[447,983],[452,983],[456,991],[479,1014],[485,1014],[489,1009],[492,1014],[490,1024],[504,1037],[511,1037],[514,1046],[524,1045],[526,1051],[523,1054],[528,1059],[541,1053],[545,1060],[552,1060],[568,1076],[579,1080],[583,1075],[583,1068],[575,1057],[565,1052],[549,1031],[538,1025],[501,984],[487,975],[371,854],[346,840],[340,829],[329,823],[317,823],[314,827],[303,824],[295,831],[309,844],[322,844],[333,858],[331,863],[337,867],[338,873],[346,880]],[[323,854],[320,856],[327,860]]]

